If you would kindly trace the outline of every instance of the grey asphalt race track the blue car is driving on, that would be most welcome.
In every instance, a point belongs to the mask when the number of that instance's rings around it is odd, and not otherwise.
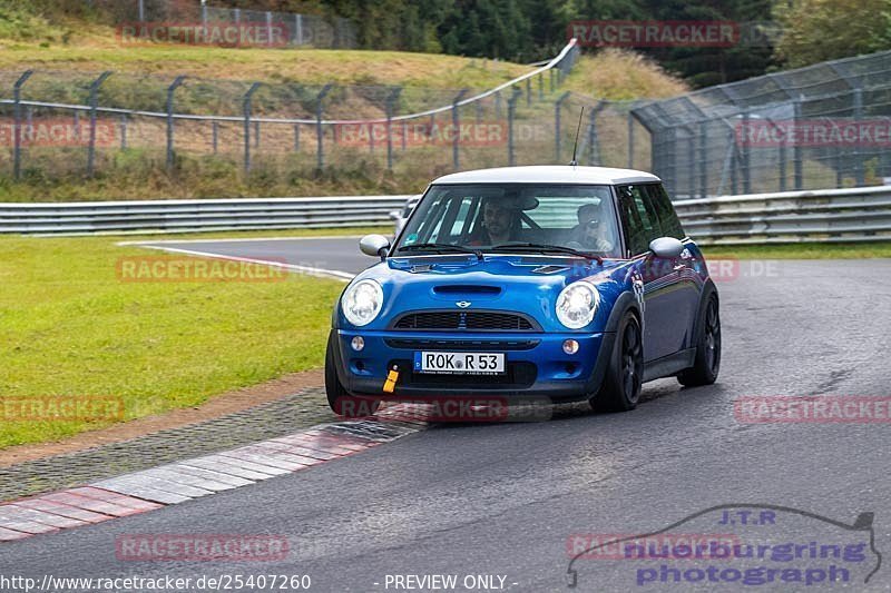
[[[373,263],[359,255],[355,239],[184,245],[345,271]],[[463,584],[467,575],[497,575],[503,585],[499,579],[495,585],[505,590],[568,591],[576,551],[568,542],[580,534],[647,534],[713,506],[750,504],[838,522],[775,511],[776,521],[745,525],[746,533],[762,530],[762,540],[772,542],[842,537],[850,532],[839,525],[874,513],[874,548],[883,562],[868,583],[877,557],[849,563],[848,590],[889,591],[889,423],[747,424],[734,417],[734,399],[887,397],[891,260],[743,261],[737,271],[718,283],[724,356],[714,386],[650,383],[644,388],[647,401],[618,415],[571,406],[556,409],[549,422],[434,425],[257,485],[0,545],[0,573],[38,581],[45,574],[309,574],[311,591],[362,592],[408,591],[412,581],[400,587],[394,575],[434,574],[457,575],[456,591],[497,591],[479,581]],[[716,513],[675,532],[743,530],[716,524]],[[286,560],[262,564],[118,561],[116,536],[134,533],[278,534],[290,538],[292,550]],[[672,573],[668,581],[642,583],[631,561],[581,557],[571,567],[577,591],[696,590],[670,582]],[[704,590],[843,586],[820,584],[712,583]]]

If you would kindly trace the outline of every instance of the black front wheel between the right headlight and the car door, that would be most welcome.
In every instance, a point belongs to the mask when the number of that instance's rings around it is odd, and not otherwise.
[[[626,312],[616,330],[609,365],[597,394],[589,399],[597,412],[628,412],[637,407],[644,379],[640,322]]]

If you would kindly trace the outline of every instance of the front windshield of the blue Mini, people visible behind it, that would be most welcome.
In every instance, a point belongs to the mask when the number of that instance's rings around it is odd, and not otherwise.
[[[610,196],[609,186],[593,185],[433,186],[392,254],[576,250],[618,257]]]

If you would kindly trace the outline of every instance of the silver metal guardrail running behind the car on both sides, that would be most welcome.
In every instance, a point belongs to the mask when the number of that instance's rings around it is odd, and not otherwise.
[[[410,196],[0,204],[0,234],[150,234],[389,224]],[[675,202],[703,245],[891,240],[891,186]]]

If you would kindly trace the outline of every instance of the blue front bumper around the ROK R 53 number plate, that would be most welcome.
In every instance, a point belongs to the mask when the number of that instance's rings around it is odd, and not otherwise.
[[[355,352],[350,343],[362,336]],[[579,343],[576,354],[562,350],[564,340]],[[548,397],[577,402],[597,392],[613,350],[615,334],[363,332],[332,329],[335,364],[341,384],[353,395],[384,401],[433,399],[497,395]],[[418,350],[505,353],[506,375],[431,375],[414,373]],[[396,366],[393,393],[384,393],[386,374]]]

